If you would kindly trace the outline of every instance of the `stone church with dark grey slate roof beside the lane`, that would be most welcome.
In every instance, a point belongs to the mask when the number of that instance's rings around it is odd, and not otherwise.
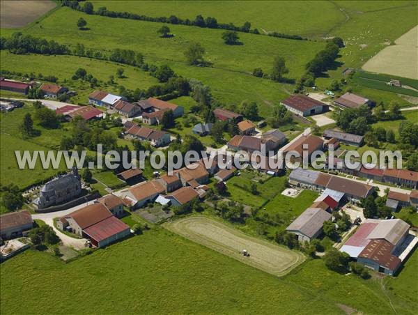
[[[54,178],[42,186],[39,197],[33,201],[38,209],[70,201],[82,193],[82,183],[76,168],[72,173]]]

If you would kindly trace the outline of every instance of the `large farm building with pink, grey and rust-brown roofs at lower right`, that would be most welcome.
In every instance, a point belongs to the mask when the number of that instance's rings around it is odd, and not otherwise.
[[[366,267],[394,275],[405,259],[403,243],[407,238],[410,242],[409,228],[409,224],[401,219],[367,219],[340,250]],[[416,239],[414,236],[412,241],[416,242]]]

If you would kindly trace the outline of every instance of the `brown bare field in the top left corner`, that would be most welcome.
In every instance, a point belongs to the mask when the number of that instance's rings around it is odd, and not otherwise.
[[[0,26],[17,29],[35,21],[55,6],[56,3],[49,0],[1,0]]]

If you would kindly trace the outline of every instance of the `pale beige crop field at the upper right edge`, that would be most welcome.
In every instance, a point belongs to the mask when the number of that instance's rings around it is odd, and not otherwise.
[[[418,25],[367,61],[363,69],[418,79]]]

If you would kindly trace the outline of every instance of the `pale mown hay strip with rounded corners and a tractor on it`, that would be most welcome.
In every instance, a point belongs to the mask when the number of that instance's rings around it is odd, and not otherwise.
[[[242,263],[282,276],[304,261],[299,252],[268,243],[203,216],[187,217],[164,227]],[[250,256],[240,254],[247,249]]]

